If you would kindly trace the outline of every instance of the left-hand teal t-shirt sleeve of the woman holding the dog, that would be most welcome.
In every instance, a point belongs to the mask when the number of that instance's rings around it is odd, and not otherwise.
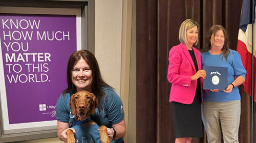
[[[56,104],[56,118],[60,122],[69,123],[69,113],[70,113],[69,98],[70,98],[69,94],[66,94],[65,96],[61,94],[60,97],[58,98],[58,101]]]

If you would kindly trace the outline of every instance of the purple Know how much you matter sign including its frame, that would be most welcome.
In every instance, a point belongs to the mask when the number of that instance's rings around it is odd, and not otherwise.
[[[69,56],[94,49],[87,12],[0,7],[0,142],[57,136],[55,107],[67,88]]]

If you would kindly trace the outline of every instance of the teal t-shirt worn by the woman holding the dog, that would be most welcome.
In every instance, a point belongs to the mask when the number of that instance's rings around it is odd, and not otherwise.
[[[91,116],[92,120],[98,126],[105,125],[111,128],[112,125],[120,123],[124,119],[123,103],[117,93],[111,87],[103,87],[105,97],[101,100],[101,110],[95,109],[95,114]],[[74,118],[70,118],[71,108],[69,101],[71,94],[61,94],[56,104],[56,118],[60,122],[71,123]],[[123,138],[113,139],[111,142],[122,142]]]

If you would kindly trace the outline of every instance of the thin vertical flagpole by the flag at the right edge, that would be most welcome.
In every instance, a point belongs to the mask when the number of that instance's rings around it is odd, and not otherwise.
[[[253,33],[254,33],[254,30],[253,30],[253,26],[254,26],[254,1],[255,0],[252,0],[252,16],[251,16],[251,20],[252,20],[252,25],[251,25],[251,143],[253,143],[253,102],[254,102],[254,94],[253,94],[253,58],[254,58],[254,53],[253,53]]]

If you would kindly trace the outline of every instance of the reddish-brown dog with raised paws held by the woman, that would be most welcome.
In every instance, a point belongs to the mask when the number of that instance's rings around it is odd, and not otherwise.
[[[98,106],[98,100],[94,94],[82,90],[72,95],[69,105],[71,107],[71,114],[75,115],[75,121],[83,121],[90,118],[90,116],[95,113],[95,108]],[[91,120],[90,122],[80,126],[93,124],[96,123]],[[66,134],[68,143],[76,142],[73,130],[67,130]],[[99,135],[101,143],[110,143],[105,126],[102,125],[99,127]]]

